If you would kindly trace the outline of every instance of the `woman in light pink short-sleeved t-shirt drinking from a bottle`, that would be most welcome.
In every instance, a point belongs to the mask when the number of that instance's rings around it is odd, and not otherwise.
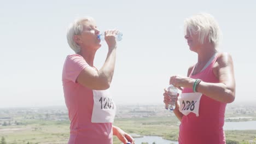
[[[76,53],[67,56],[62,71],[65,103],[71,121],[70,144],[111,144],[113,135],[123,143],[134,143],[129,134],[112,125],[116,106],[108,88],[115,68],[117,33],[118,30],[104,33],[108,54],[98,70],[94,67],[94,57],[101,40],[97,38],[100,31],[94,19],[78,19],[68,28],[68,44]]]

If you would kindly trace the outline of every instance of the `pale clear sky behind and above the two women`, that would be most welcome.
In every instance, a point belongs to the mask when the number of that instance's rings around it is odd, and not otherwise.
[[[256,101],[256,1],[3,1],[0,5],[0,107],[65,105],[62,66],[74,53],[66,28],[91,16],[101,31],[123,32],[110,92],[117,104],[161,104],[172,75],[186,75],[197,55],[183,21],[212,14],[223,32],[220,51],[232,55],[236,100]],[[99,69],[107,54],[96,53]]]

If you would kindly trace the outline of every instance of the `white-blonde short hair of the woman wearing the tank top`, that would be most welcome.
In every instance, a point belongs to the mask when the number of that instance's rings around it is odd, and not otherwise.
[[[200,13],[189,17],[184,21],[184,30],[189,33],[199,34],[199,41],[202,44],[205,41],[207,35],[210,43],[217,46],[221,31],[218,22],[214,17],[207,13]]]

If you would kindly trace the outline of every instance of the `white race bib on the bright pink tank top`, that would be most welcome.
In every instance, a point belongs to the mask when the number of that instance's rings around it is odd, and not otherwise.
[[[177,100],[179,111],[185,116],[193,112],[198,117],[201,97],[201,93],[182,93]]]

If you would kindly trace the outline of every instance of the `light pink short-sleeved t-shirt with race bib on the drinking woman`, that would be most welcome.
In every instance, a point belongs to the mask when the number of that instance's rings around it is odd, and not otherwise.
[[[113,143],[115,105],[107,91],[95,91],[77,82],[88,67],[80,55],[69,55],[62,71],[63,92],[71,121],[68,143]],[[90,67],[90,66],[89,66]]]

